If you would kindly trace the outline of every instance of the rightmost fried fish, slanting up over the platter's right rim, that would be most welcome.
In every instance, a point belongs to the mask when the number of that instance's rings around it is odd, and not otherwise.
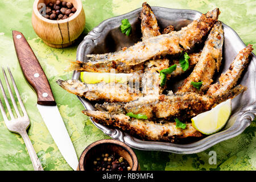
[[[240,78],[243,69],[245,69],[249,63],[251,51],[253,51],[253,46],[250,44],[246,48],[243,48],[238,53],[229,69],[218,78],[220,83],[211,85],[207,94],[216,96],[224,93],[225,90],[232,89],[233,86],[237,84],[237,80]]]

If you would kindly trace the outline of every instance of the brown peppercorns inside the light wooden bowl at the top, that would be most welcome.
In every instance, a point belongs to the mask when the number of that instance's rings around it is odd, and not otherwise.
[[[50,2],[46,5],[46,14],[43,16],[47,19],[61,20],[67,19],[75,13],[76,8],[71,2],[57,0],[55,3]]]

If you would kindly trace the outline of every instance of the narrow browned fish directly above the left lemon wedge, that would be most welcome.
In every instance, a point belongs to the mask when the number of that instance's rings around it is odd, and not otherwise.
[[[98,63],[98,64],[87,64],[82,61],[73,61],[69,70],[85,71],[85,72],[97,72],[97,73],[110,73],[114,71],[115,73],[138,73],[144,72],[143,63],[137,65],[125,65],[125,63],[110,61],[108,63]]]

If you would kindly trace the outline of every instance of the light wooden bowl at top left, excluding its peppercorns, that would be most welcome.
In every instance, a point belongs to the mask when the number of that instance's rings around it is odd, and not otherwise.
[[[85,27],[85,13],[81,0],[65,1],[73,3],[77,11],[71,17],[63,20],[47,19],[39,13],[43,5],[40,3],[47,5],[49,2],[55,3],[56,0],[35,0],[33,5],[32,26],[36,34],[50,47],[64,48],[71,46]]]

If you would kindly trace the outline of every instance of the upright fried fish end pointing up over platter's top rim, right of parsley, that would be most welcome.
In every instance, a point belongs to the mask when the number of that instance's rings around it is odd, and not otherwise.
[[[150,5],[148,5],[146,2],[142,4],[141,31],[142,40],[160,35],[158,21],[156,20]]]

